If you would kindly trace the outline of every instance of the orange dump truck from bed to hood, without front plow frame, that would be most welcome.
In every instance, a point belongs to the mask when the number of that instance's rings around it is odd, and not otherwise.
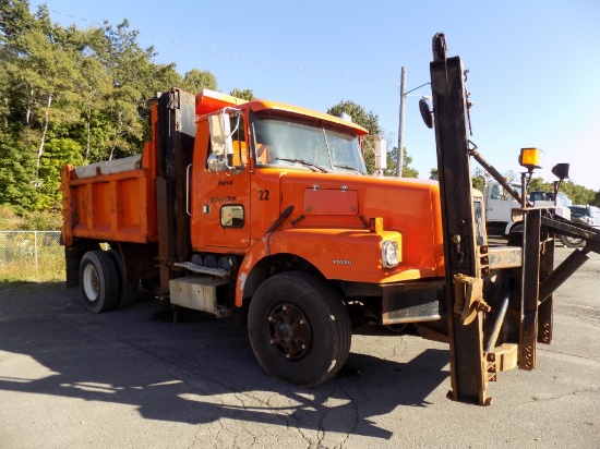
[[[152,122],[142,155],[62,171],[68,282],[92,312],[132,304],[142,280],[248,315],[261,364],[299,385],[344,364],[350,316],[444,315],[439,185],[367,175],[361,126],[178,89]]]

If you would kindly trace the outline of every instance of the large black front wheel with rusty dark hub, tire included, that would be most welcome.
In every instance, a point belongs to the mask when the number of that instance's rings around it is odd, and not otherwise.
[[[333,377],[350,352],[339,294],[316,275],[288,271],[264,281],[248,314],[254,355],[273,377],[311,387]]]

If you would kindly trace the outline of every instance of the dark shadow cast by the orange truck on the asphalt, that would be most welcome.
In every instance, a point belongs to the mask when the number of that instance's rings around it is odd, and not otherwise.
[[[444,350],[406,363],[351,353],[333,380],[297,388],[262,371],[244,328],[193,311],[175,326],[147,298],[93,315],[79,291],[68,290],[2,299],[0,312],[1,390],[130,404],[146,420],[229,418],[388,439],[392,433],[370,418],[427,406],[448,377]],[[28,356],[37,368],[11,371],[2,351]]]

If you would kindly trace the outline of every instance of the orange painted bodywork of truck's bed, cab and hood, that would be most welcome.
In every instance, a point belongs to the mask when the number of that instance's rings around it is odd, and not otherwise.
[[[436,182],[322,173],[291,167],[261,167],[253,147],[242,155],[240,172],[207,170],[209,129],[206,114],[224,107],[241,110],[244,135],[251,136],[249,111],[273,109],[300,113],[365,134],[361,126],[331,116],[274,101],[243,101],[203,90],[196,96],[196,134],[190,177],[190,240],[194,252],[243,256],[236,305],[255,265],[276,254],[303,258],[326,278],[392,283],[444,276],[440,189]],[[153,109],[153,130],[157,111]],[[156,225],[155,142],[146,144],[142,167],[113,174],[77,179],[72,167],[63,177],[65,244],[73,238],[154,242]],[[250,141],[249,141],[250,142]],[[271,233],[283,211],[291,214]],[[242,226],[227,227],[232,215]],[[383,226],[370,232],[370,220]],[[241,221],[240,221],[241,220]],[[396,241],[400,262],[383,268],[382,243]]]

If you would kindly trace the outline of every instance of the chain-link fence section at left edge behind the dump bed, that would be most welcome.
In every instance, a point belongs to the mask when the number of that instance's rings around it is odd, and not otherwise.
[[[64,280],[60,231],[0,231],[0,280]]]

